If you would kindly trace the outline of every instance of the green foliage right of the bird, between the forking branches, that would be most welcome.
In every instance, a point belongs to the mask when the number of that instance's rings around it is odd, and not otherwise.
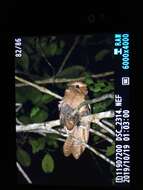
[[[111,93],[114,91],[113,82],[110,82],[109,80],[94,80],[90,73],[86,73],[85,83],[87,84],[89,93],[92,94],[93,98],[100,97],[106,93]],[[110,106],[112,106],[113,103],[113,99],[106,99],[105,101],[92,104],[92,113],[106,111],[110,108]],[[111,121],[112,119],[110,119],[110,122]],[[101,128],[96,124],[92,124],[92,128],[97,131],[101,130]],[[101,140],[103,139],[99,136],[93,135],[92,142],[95,146]],[[113,143],[111,146],[104,147],[104,150],[107,157],[112,156],[115,153],[115,143]]]

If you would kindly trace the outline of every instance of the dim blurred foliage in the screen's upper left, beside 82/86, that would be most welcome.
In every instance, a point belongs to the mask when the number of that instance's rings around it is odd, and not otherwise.
[[[16,58],[16,70],[27,75],[49,76],[51,74],[51,58],[61,56],[66,42],[56,37],[26,37],[23,40],[23,52],[20,59]],[[53,63],[54,64],[54,63]],[[42,66],[41,66],[42,65]],[[50,71],[50,72],[48,72]]]

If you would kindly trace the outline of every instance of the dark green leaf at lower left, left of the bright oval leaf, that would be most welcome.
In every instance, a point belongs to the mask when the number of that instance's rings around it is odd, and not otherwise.
[[[18,147],[16,155],[17,155],[17,160],[23,166],[26,166],[26,167],[30,166],[30,164],[31,164],[31,158],[30,158],[30,155],[25,150],[23,150],[22,148]]]

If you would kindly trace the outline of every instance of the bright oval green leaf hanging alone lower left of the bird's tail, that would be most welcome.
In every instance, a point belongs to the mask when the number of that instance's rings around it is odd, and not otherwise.
[[[45,173],[51,173],[54,170],[54,160],[50,154],[46,154],[42,160],[42,169]]]

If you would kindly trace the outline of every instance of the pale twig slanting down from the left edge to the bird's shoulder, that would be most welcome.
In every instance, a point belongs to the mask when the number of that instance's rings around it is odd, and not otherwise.
[[[15,76],[15,79],[18,80],[18,81],[20,81],[20,82],[23,82],[23,83],[25,83],[25,84],[28,84],[28,85],[32,86],[33,88],[36,88],[36,89],[39,90],[40,92],[43,92],[43,93],[46,93],[46,94],[50,94],[51,96],[54,96],[55,98],[58,98],[58,99],[60,99],[60,100],[62,99],[61,96],[59,96],[58,94],[56,94],[56,93],[54,93],[54,92],[48,90],[47,88],[45,88],[45,87],[43,87],[43,86],[39,86],[39,85],[37,85],[37,84],[34,84],[34,83],[32,83],[32,82],[30,82],[30,81],[27,81],[27,80],[25,80],[25,79],[23,79],[23,78],[20,78],[20,77],[18,77],[18,76]]]

